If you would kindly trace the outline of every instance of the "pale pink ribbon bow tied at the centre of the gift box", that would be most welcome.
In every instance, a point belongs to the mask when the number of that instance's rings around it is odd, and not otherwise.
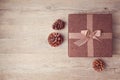
[[[74,44],[77,46],[82,46],[87,43],[90,39],[95,39],[100,41],[99,37],[101,36],[101,30],[95,30],[91,32],[90,30],[82,30],[80,32],[80,39],[75,41]]]

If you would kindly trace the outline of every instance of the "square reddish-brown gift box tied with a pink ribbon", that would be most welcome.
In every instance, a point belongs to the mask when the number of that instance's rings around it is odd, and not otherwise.
[[[85,35],[99,33],[97,36]],[[84,38],[81,34],[84,33]],[[69,14],[68,55],[70,57],[112,56],[111,14]],[[82,42],[80,42],[83,40]],[[86,41],[85,41],[86,40]],[[83,43],[83,44],[82,44]]]

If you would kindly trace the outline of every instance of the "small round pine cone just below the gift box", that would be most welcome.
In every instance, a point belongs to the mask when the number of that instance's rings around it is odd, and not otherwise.
[[[105,69],[105,63],[101,59],[95,59],[93,61],[93,68],[97,72],[103,71]]]

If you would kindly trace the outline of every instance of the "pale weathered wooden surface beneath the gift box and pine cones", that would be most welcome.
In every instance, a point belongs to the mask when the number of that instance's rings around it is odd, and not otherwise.
[[[52,48],[53,22],[71,13],[113,14],[113,57],[103,72],[95,58],[68,57],[68,26],[58,31],[64,43]],[[0,0],[0,80],[120,80],[120,0]]]

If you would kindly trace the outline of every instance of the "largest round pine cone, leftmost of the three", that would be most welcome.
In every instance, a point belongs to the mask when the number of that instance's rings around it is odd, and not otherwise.
[[[63,42],[63,36],[60,33],[53,32],[48,36],[48,42],[52,47],[57,47]]]

